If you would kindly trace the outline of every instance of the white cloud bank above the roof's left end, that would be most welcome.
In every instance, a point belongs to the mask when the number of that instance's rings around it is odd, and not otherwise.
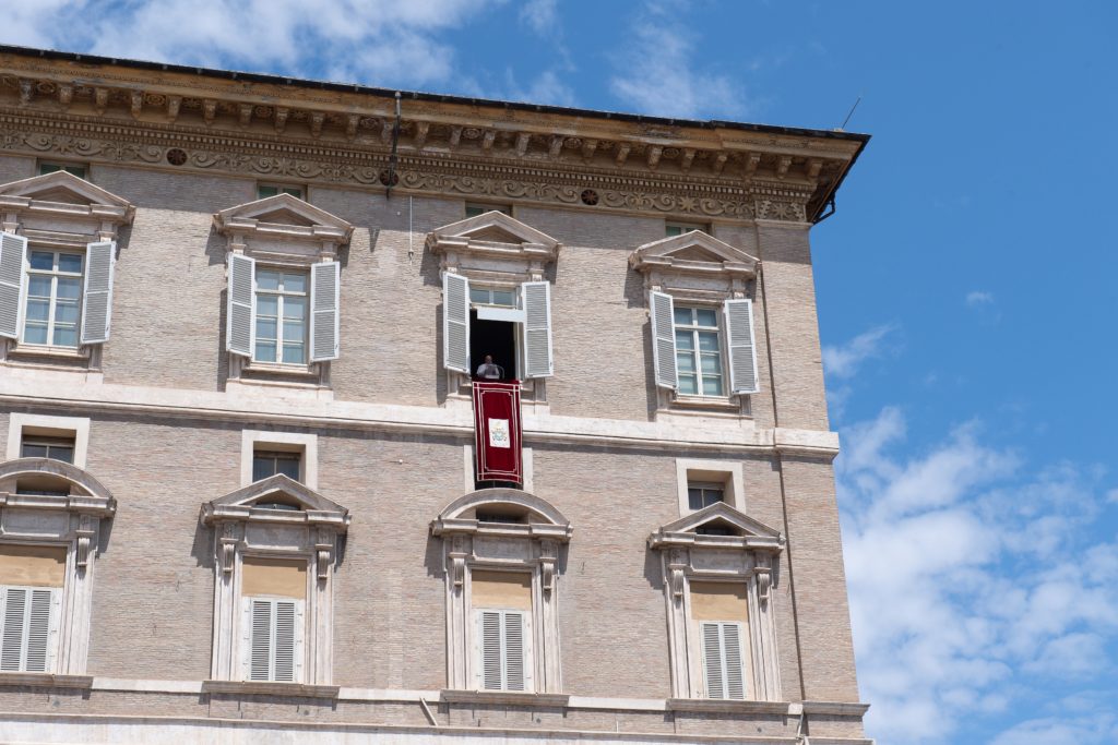
[[[16,3],[0,39],[112,57],[423,85],[454,74],[454,29],[501,0],[86,0]],[[82,12],[91,22],[59,22]]]

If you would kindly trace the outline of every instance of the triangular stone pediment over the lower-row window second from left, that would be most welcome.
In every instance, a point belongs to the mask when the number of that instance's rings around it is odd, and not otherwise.
[[[278,508],[264,507],[276,505]],[[249,484],[202,505],[202,523],[262,520],[333,525],[344,531],[349,509],[283,474]]]

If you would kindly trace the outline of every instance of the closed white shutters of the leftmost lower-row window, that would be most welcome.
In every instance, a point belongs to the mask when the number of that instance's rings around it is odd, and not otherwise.
[[[0,585],[0,670],[54,670],[60,600],[56,588]]]

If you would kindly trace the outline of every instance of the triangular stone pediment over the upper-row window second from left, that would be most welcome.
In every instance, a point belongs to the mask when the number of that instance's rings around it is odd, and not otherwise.
[[[225,236],[331,240],[345,243],[353,226],[299,197],[280,193],[221,210],[214,225]]]

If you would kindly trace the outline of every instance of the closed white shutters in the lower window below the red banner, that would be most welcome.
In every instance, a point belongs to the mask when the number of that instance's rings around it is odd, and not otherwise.
[[[477,611],[479,688],[532,690],[531,624],[522,611]]]

